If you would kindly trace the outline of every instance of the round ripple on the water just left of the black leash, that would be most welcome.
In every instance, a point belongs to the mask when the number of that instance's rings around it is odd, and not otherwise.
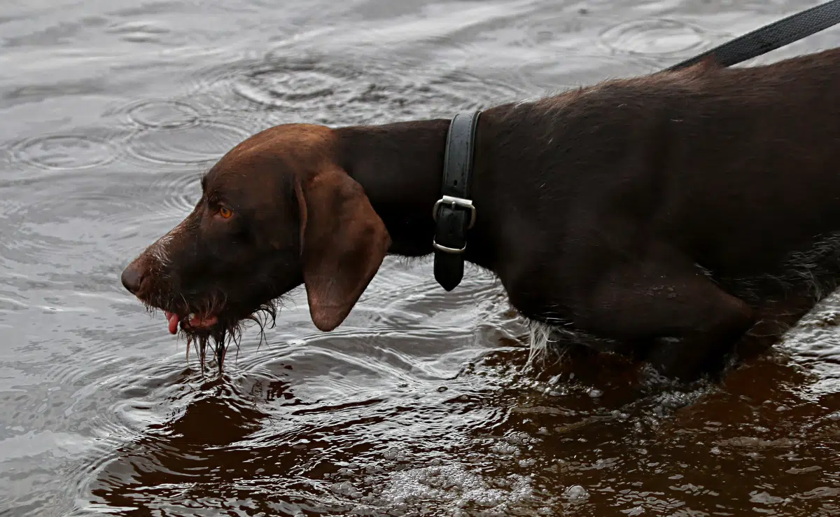
[[[699,27],[662,18],[623,22],[601,32],[602,44],[633,54],[680,54],[705,41],[705,32]]]

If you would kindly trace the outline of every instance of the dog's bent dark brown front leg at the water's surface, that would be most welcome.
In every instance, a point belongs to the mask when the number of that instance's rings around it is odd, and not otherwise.
[[[652,343],[643,356],[683,381],[722,366],[754,321],[747,303],[718,288],[692,261],[661,250],[603,270],[579,316],[585,330]]]

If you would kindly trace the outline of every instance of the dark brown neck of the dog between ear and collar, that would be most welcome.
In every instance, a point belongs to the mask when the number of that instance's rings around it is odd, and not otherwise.
[[[432,253],[432,208],[441,197],[448,119],[336,129],[340,163],[391,235],[391,253]],[[469,247],[469,246],[468,246]]]

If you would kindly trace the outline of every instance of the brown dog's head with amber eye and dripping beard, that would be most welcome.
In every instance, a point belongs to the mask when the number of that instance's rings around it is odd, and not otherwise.
[[[125,268],[123,286],[162,309],[174,334],[224,336],[302,283],[312,322],[349,314],[391,239],[335,159],[331,129],[286,124],[230,150],[202,178],[192,213]]]

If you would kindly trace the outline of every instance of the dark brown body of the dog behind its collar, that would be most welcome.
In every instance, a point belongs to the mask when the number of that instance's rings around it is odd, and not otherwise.
[[[732,306],[716,317],[730,314],[733,329],[757,317],[779,335],[837,285],[840,50],[752,68],[706,62],[482,116],[491,172],[476,186],[515,207],[494,223],[518,254],[508,292],[529,293],[518,301],[533,314],[554,307],[550,317],[603,330],[605,311],[622,310],[651,321],[605,334],[637,340],[666,331],[680,303],[697,314],[711,303]],[[688,263],[693,273],[678,266]],[[659,271],[663,285],[704,275],[734,298],[697,283],[654,302]],[[686,332],[699,325],[685,316]]]

